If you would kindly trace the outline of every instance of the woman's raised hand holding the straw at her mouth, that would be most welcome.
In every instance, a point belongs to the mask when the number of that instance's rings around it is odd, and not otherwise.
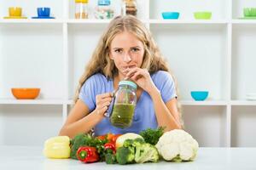
[[[126,76],[125,79],[131,79],[131,81],[136,82],[137,85],[148,92],[148,94],[150,94],[149,92],[152,92],[154,89],[157,89],[147,69],[132,67],[125,69],[123,73]]]

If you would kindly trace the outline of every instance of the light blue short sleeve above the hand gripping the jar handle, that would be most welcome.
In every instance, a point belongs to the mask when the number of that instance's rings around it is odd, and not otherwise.
[[[95,77],[87,79],[79,93],[79,99],[81,99],[85,105],[88,106],[90,111],[93,111],[96,107],[96,81]]]

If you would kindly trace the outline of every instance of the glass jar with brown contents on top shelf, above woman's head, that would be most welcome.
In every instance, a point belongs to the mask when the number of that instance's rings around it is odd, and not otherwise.
[[[136,0],[123,0],[122,15],[131,14],[137,16],[137,2]]]

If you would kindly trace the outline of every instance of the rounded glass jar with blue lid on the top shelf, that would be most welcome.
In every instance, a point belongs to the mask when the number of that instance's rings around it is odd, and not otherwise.
[[[111,7],[110,0],[98,0],[94,14],[96,19],[112,19],[114,10]]]

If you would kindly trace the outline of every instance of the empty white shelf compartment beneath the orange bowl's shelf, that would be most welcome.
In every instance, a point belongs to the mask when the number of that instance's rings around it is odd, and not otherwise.
[[[61,105],[0,105],[0,145],[43,146],[59,132],[62,112]]]

